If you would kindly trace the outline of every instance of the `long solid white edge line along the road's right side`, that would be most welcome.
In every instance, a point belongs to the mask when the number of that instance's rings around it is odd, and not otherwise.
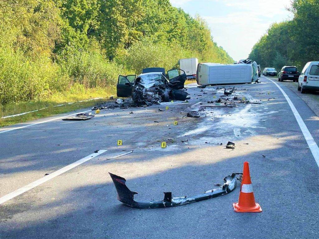
[[[263,76],[265,77],[265,76]],[[268,77],[265,77],[266,79],[270,80],[272,83],[274,83],[278,89],[281,91],[281,93],[284,95],[284,97],[286,98],[291,110],[293,111],[293,114],[298,122],[298,125],[301,129],[301,132],[303,134],[303,136],[305,137],[306,141],[307,141],[307,144],[309,146],[309,149],[311,150],[311,153],[312,155],[314,156],[315,158],[315,161],[319,167],[319,148],[318,148],[318,145],[316,144],[314,138],[312,137],[312,135],[310,134],[306,124],[303,122],[300,114],[298,113],[297,109],[295,108],[295,106],[293,105],[293,102],[291,102],[291,100],[289,99],[289,97],[287,96],[287,94],[285,93],[285,91],[283,89],[281,89],[281,87],[276,83],[274,82],[273,80],[271,80],[270,78]]]

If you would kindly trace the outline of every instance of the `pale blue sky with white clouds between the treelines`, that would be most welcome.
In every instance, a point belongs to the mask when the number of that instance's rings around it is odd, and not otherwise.
[[[175,7],[206,20],[213,39],[235,61],[251,48],[274,22],[290,19],[291,0],[170,0]]]

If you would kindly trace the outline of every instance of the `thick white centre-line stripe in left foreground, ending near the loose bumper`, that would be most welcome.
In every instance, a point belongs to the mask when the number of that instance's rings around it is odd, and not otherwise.
[[[24,186],[22,188],[17,189],[14,192],[11,192],[11,193],[1,197],[0,198],[0,204],[3,204],[4,202],[6,202],[6,201],[8,201],[10,199],[13,199],[14,197],[17,197],[18,195],[20,195],[20,194],[22,194],[22,193],[24,193],[26,191],[29,191],[30,189],[35,188],[36,186],[39,186],[39,185],[47,182],[48,180],[50,180],[50,179],[52,179],[52,178],[54,178],[56,176],[59,176],[60,174],[66,172],[68,170],[73,169],[74,167],[80,165],[81,163],[84,163],[84,162],[86,162],[86,161],[88,161],[88,160],[90,160],[90,159],[92,159],[92,158],[94,158],[94,157],[96,157],[96,156],[98,156],[100,154],[103,154],[105,151],[107,151],[107,150],[99,150],[97,153],[90,154],[89,156],[86,156],[86,157],[84,157],[84,158],[82,158],[82,159],[80,159],[80,160],[78,160],[78,161],[76,161],[74,163],[71,163],[71,164],[63,167],[62,169],[59,169],[59,170],[57,170],[57,171],[55,171],[53,173],[50,173],[47,176],[44,176],[44,177],[34,181],[33,183],[30,183],[30,184],[28,184],[28,185],[26,185],[26,186]]]

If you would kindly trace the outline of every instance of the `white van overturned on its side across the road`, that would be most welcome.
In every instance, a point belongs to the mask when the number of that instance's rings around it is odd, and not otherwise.
[[[252,64],[199,63],[196,81],[199,85],[251,83],[254,78]]]

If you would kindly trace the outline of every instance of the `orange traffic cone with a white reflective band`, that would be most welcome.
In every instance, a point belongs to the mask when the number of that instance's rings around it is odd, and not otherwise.
[[[235,212],[239,213],[260,213],[262,211],[259,204],[255,202],[248,162],[244,162],[239,200],[238,203],[233,203],[233,207]]]

